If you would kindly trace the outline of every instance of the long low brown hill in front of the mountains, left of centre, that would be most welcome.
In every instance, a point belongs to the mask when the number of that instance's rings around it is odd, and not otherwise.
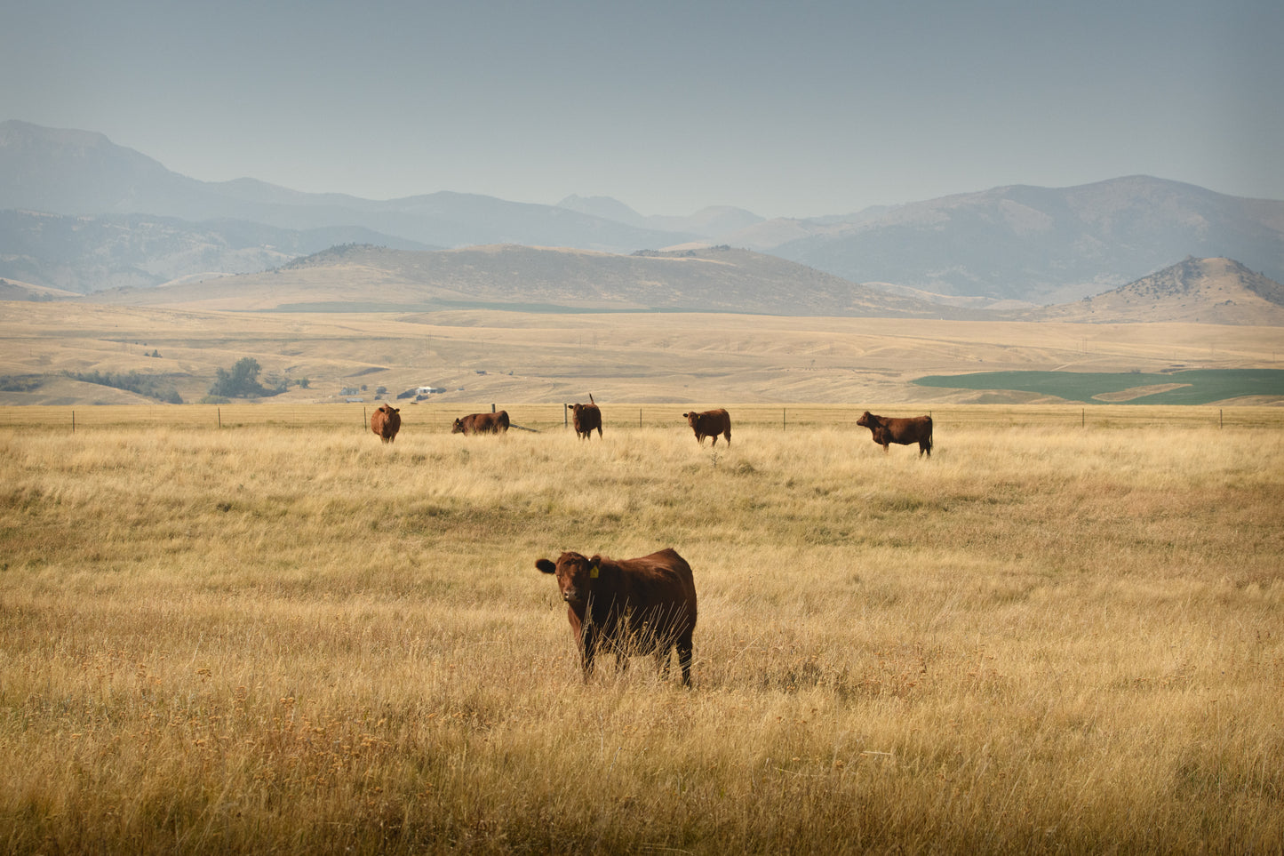
[[[492,245],[435,252],[336,247],[262,274],[98,292],[95,303],[200,310],[451,307],[693,310],[787,316],[966,317],[796,262],[710,247],[632,256]]]

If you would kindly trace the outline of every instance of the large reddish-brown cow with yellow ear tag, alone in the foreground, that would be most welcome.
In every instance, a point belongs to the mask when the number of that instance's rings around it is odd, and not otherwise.
[[[614,653],[620,671],[628,668],[629,657],[654,654],[668,677],[669,652],[677,648],[682,684],[691,686],[696,584],[691,566],[677,551],[620,560],[562,553],[556,563],[538,559],[535,567],[557,575],[586,682],[600,650]]]

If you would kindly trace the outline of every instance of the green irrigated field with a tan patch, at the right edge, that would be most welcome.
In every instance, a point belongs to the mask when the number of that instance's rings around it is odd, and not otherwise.
[[[1206,405],[1247,396],[1284,395],[1280,369],[1190,369],[1166,374],[1090,371],[978,371],[918,378],[922,387],[1035,392],[1066,401]]]

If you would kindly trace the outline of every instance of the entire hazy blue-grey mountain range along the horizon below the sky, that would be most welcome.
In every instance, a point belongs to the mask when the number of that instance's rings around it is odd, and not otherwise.
[[[1235,258],[1284,279],[1284,202],[1148,176],[995,188],[806,220],[764,220],[737,208],[643,217],[601,197],[556,206],[460,193],[377,202],[252,179],[207,183],[100,134],[6,121],[0,211],[0,276],[81,293],[256,272],[348,243],[403,251],[520,244],[625,256],[727,244],[849,287],[981,303],[1072,302],[1188,256]]]

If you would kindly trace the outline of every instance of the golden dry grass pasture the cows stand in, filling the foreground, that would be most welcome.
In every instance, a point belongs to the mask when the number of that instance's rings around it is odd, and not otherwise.
[[[1284,851],[1284,411],[713,404],[21,409],[0,848]],[[584,684],[535,559],[665,546],[695,686]]]

